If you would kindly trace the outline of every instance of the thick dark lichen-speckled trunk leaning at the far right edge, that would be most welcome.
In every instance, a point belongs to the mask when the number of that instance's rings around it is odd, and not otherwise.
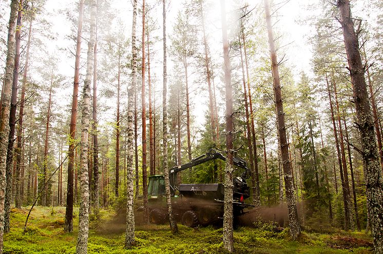
[[[372,229],[375,253],[383,253],[383,183],[374,122],[371,114],[358,38],[351,18],[349,0],[338,0],[340,24],[353,85],[357,124],[362,145],[363,169],[366,180],[367,208]]]

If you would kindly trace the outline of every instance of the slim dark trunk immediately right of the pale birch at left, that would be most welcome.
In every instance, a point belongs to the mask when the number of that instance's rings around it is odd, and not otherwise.
[[[100,191],[99,191],[99,133],[97,130],[97,23],[96,17],[95,41],[94,41],[94,58],[93,58],[93,107],[92,107],[92,129],[93,129],[93,209],[96,217],[99,216],[100,210]]]

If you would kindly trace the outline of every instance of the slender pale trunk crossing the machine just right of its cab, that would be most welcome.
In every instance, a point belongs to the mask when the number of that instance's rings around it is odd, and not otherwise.
[[[166,194],[166,206],[167,214],[169,218],[170,230],[172,233],[178,233],[178,226],[173,214],[173,207],[171,207],[171,193],[170,193],[170,180],[169,169],[167,164],[167,65],[166,65],[166,0],[162,0],[162,17],[163,17],[163,88],[162,88],[162,128],[163,128],[163,160],[164,160],[164,178],[165,178],[165,194]]]

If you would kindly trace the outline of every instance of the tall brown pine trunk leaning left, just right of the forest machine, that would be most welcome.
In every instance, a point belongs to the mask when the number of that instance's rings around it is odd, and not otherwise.
[[[293,176],[291,173],[291,163],[289,160],[289,147],[286,140],[286,128],[284,123],[284,113],[282,104],[282,94],[278,71],[277,53],[274,45],[274,36],[271,24],[270,6],[269,1],[264,0],[264,7],[266,12],[267,34],[269,36],[269,46],[271,52],[271,62],[273,71],[274,95],[275,95],[275,109],[277,113],[278,133],[281,147],[282,166],[284,175],[284,185],[286,191],[286,201],[289,210],[289,225],[290,235],[293,239],[297,239],[300,235],[300,226],[298,223],[297,206],[295,203],[295,193],[293,186]]]

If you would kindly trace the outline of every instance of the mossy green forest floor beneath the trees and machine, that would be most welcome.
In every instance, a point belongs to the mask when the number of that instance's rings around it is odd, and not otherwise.
[[[74,232],[66,233],[65,207],[35,207],[23,233],[27,214],[27,208],[12,209],[11,231],[4,235],[4,254],[75,253],[78,216],[74,218]],[[88,253],[226,253],[222,229],[193,229],[180,224],[178,235],[171,235],[168,225],[136,226],[136,245],[124,250],[125,224],[122,216],[116,218],[111,210],[102,210],[98,223],[90,217]],[[301,239],[292,241],[287,230],[274,232],[269,228],[239,227],[234,231],[235,253],[372,253],[371,237],[361,232],[304,232]]]

